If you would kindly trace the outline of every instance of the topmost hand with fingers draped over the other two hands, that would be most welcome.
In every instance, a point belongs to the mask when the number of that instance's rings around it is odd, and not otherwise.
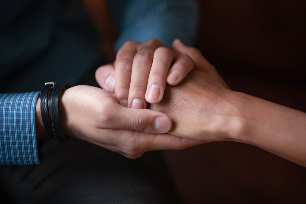
[[[96,80],[114,93],[121,105],[146,108],[147,102],[162,100],[166,83],[177,85],[193,67],[191,57],[175,53],[156,39],[128,41],[118,51],[114,64],[97,69]]]

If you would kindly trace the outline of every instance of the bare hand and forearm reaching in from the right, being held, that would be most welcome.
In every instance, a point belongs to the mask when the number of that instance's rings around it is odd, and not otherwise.
[[[195,69],[150,106],[172,119],[169,134],[248,143],[306,166],[306,113],[231,91],[198,50],[179,41],[174,50],[192,57]]]

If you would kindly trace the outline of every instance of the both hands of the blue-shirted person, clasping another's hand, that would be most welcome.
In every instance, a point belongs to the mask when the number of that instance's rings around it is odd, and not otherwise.
[[[162,100],[166,81],[170,85],[180,83],[193,67],[191,57],[175,54],[158,40],[125,43],[114,65],[102,66],[96,72],[98,83],[108,91],[80,85],[62,93],[59,110],[64,135],[128,158],[150,150],[183,149],[203,143],[165,134],[171,129],[171,119],[165,113],[145,109],[146,100]],[[37,102],[36,127],[38,135],[43,135],[46,133],[39,111]]]

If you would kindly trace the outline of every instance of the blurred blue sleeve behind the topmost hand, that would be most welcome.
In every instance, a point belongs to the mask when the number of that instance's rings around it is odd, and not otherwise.
[[[192,0],[109,0],[112,17],[120,32],[115,51],[127,40],[159,39],[171,46],[179,38],[192,46],[196,38],[198,6]]]

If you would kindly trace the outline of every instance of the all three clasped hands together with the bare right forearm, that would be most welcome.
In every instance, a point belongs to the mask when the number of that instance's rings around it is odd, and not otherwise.
[[[157,40],[127,42],[114,65],[97,70],[96,80],[108,91],[75,86],[62,93],[60,120],[67,137],[128,158],[236,141],[306,166],[304,112],[230,90],[199,50],[179,40],[173,50]],[[46,135],[39,101],[35,115],[37,135]]]

